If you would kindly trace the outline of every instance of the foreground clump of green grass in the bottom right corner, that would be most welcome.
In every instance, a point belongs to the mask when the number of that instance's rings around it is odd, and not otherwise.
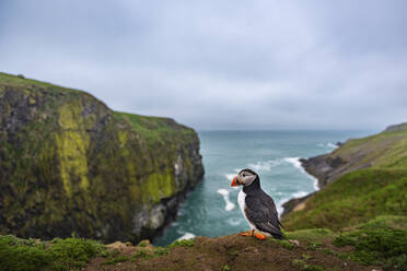
[[[305,266],[310,268],[306,261],[312,259],[312,251],[361,264],[380,266],[384,270],[407,270],[406,215],[376,216],[342,232],[310,228],[287,232],[286,235],[290,239],[299,240],[310,254],[303,254],[302,259],[296,259],[293,263],[300,270],[307,270],[303,269]],[[345,246],[349,252],[340,251],[339,248]]]

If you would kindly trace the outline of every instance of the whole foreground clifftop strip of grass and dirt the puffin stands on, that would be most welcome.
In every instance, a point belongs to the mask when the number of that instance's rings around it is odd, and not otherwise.
[[[284,233],[289,240],[229,235],[154,247],[81,238],[42,241],[0,236],[3,270],[405,270],[406,217],[382,216],[346,233]]]

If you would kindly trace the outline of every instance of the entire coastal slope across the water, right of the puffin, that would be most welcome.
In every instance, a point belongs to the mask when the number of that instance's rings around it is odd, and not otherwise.
[[[288,228],[341,229],[379,215],[407,215],[407,125],[348,140],[303,162],[322,190],[284,203]]]

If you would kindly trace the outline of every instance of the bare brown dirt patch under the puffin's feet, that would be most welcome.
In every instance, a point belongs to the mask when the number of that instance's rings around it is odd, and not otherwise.
[[[317,249],[310,249],[306,241],[291,249],[284,248],[272,239],[258,240],[249,236],[229,235],[219,238],[197,237],[191,247],[174,247],[167,255],[156,256],[150,259],[136,258],[115,264],[104,266],[101,263],[107,259],[97,257],[83,269],[94,270],[317,270],[305,269],[304,266],[295,266],[299,260],[304,264],[317,266],[325,270],[381,270],[377,267],[360,266],[350,260],[344,260],[333,255],[326,255],[323,249],[344,252],[347,248],[338,250],[330,241],[323,241]],[[108,249],[116,249],[118,255],[131,257],[137,251],[154,251],[156,248],[148,244],[146,247],[127,246],[117,243],[109,245]],[[225,267],[228,264],[229,269]],[[222,269],[223,268],[223,269]]]

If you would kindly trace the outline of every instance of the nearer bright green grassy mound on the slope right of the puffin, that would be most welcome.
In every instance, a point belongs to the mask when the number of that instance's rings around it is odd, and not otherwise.
[[[379,215],[406,215],[407,170],[369,168],[341,176],[289,213],[287,228],[325,227],[338,231]]]

